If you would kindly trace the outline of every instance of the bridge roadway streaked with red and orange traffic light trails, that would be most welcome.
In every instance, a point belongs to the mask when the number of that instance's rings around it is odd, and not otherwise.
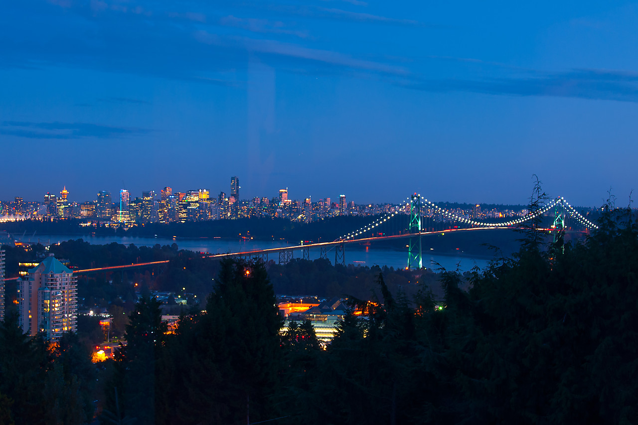
[[[472,232],[479,230],[493,230],[493,229],[516,229],[516,227],[473,227],[473,228],[452,228],[447,230],[437,230],[433,232],[420,232],[421,235],[435,235],[435,234],[446,234],[452,232]],[[551,228],[539,228],[538,231],[547,231],[552,230]],[[258,257],[260,255],[269,254],[269,253],[279,253],[282,251],[297,251],[297,250],[308,250],[310,248],[331,248],[333,246],[341,245],[341,244],[355,244],[361,242],[374,242],[374,241],[389,241],[392,239],[406,239],[409,237],[415,237],[419,235],[418,233],[408,233],[403,235],[390,235],[390,236],[373,236],[373,237],[364,237],[361,239],[346,239],[344,241],[332,241],[332,242],[316,242],[305,245],[295,245],[295,246],[282,246],[281,248],[267,248],[265,250],[253,250],[253,251],[241,251],[241,252],[230,252],[223,254],[211,254],[204,255],[202,258],[225,258],[225,257]],[[161,261],[151,261],[145,263],[135,263],[135,264],[124,264],[124,265],[111,265],[108,267],[95,267],[93,269],[82,269],[82,270],[74,270],[75,274],[87,274],[92,272],[103,272],[103,271],[114,271],[114,270],[122,270],[122,269],[133,269],[136,267],[147,267],[154,265],[167,264],[170,260],[161,260]],[[4,280],[17,280],[17,278],[5,278]]]

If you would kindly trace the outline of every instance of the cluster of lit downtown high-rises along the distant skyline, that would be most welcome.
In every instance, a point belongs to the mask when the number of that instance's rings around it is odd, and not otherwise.
[[[239,177],[230,179],[230,192],[220,191],[211,196],[207,189],[175,191],[166,186],[160,191],[142,191],[134,197],[130,191],[119,193],[99,191],[95,200],[71,202],[66,186],[60,195],[46,193],[44,202],[24,202],[16,197],[13,202],[0,205],[0,217],[6,221],[30,218],[31,220],[96,219],[114,225],[142,223],[174,223],[202,220],[224,220],[251,217],[277,217],[293,221],[310,222],[332,216],[373,215],[389,211],[390,204],[355,205],[339,195],[338,202],[321,198],[313,202],[311,197],[302,200],[288,198],[288,189],[281,189],[276,197],[240,197]]]

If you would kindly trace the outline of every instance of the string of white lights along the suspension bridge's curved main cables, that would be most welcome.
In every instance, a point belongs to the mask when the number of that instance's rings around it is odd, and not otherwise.
[[[466,223],[466,224],[474,225],[474,226],[506,227],[506,226],[519,225],[521,223],[524,223],[525,221],[533,220],[533,219],[537,218],[538,216],[547,213],[547,211],[552,209],[557,204],[561,203],[561,204],[567,206],[567,208],[568,208],[567,212],[569,213],[569,215],[572,216],[573,218],[575,218],[576,220],[578,220],[582,225],[584,225],[585,227],[588,227],[588,228],[598,228],[597,225],[592,223],[590,220],[587,220],[586,218],[584,218],[584,216],[582,216],[581,213],[576,211],[574,209],[574,207],[572,207],[572,205],[570,205],[569,202],[567,202],[567,200],[565,200],[565,198],[563,198],[563,197],[558,197],[558,198],[554,199],[549,205],[547,205],[544,208],[540,209],[535,214],[528,214],[528,215],[526,215],[526,216],[524,216],[522,218],[519,218],[517,220],[503,221],[502,223],[487,223],[485,221],[470,220],[468,218],[461,217],[461,216],[459,216],[457,214],[450,213],[449,211],[439,207],[438,205],[434,204],[433,202],[431,202],[431,201],[427,200],[426,198],[422,197],[420,194],[417,195],[417,196],[419,196],[424,202],[426,202],[427,205],[429,205],[429,207],[438,210],[438,213],[440,213],[442,216],[445,216],[446,218],[449,218],[450,220],[461,221],[462,223]],[[348,233],[346,235],[343,235],[337,240],[338,241],[343,241],[345,239],[352,239],[353,237],[356,237],[358,235],[362,235],[362,234],[368,232],[369,230],[373,230],[375,227],[378,227],[378,225],[380,225],[382,223],[385,223],[385,221],[388,221],[388,220],[390,220],[390,218],[398,215],[399,213],[398,213],[397,210],[403,209],[404,205],[406,205],[408,203],[408,201],[412,202],[411,197],[408,197],[408,198],[406,198],[406,200],[401,202],[399,207],[394,208],[392,210],[392,213],[386,214],[385,216],[383,216],[381,218],[378,218],[377,220],[369,223],[368,225],[366,225],[364,227],[361,227],[361,228],[355,230],[354,232],[350,232],[350,233]]]

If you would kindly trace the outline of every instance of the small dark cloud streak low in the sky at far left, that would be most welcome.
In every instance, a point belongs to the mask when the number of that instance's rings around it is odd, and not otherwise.
[[[40,139],[121,138],[142,135],[149,133],[149,131],[143,128],[103,126],[90,123],[4,121],[0,126],[0,134]]]

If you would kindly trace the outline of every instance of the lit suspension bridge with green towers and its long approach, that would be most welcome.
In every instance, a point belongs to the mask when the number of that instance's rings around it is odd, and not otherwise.
[[[240,251],[232,253],[221,254],[209,254],[204,255],[204,258],[245,258],[245,259],[258,259],[267,262],[269,255],[278,255],[279,264],[286,264],[293,258],[294,251],[301,251],[302,258],[305,260],[310,259],[310,250],[319,249],[320,257],[327,258],[328,253],[334,249],[334,264],[345,265],[345,246],[348,244],[361,244],[367,242],[376,241],[390,241],[394,239],[409,239],[407,255],[407,268],[408,269],[421,269],[423,267],[422,261],[422,237],[433,234],[446,234],[450,232],[480,232],[487,229],[514,229],[521,227],[530,228],[527,223],[537,223],[546,214],[553,212],[553,223],[549,227],[533,227],[538,232],[554,231],[554,235],[557,235],[561,231],[565,231],[565,220],[570,217],[579,223],[584,229],[584,232],[588,232],[592,229],[597,229],[598,226],[591,222],[581,213],[576,211],[573,205],[569,204],[563,197],[554,198],[540,207],[537,211],[529,211],[524,216],[512,218],[511,220],[503,221],[482,221],[476,218],[469,218],[468,216],[462,216],[441,208],[439,205],[434,204],[430,200],[422,197],[420,194],[414,193],[410,197],[407,197],[401,204],[396,207],[392,207],[389,213],[371,221],[367,225],[360,227],[353,232],[345,235],[341,235],[331,242],[315,242],[309,244],[299,244],[295,246],[282,246],[280,248],[267,248],[264,250],[251,250]],[[409,213],[409,214],[408,214]],[[405,218],[409,217],[408,226],[406,232],[396,235],[375,234],[375,230],[379,227],[383,227],[385,223],[389,221],[400,221],[397,217]],[[454,228],[451,227],[445,230],[428,230],[424,227],[424,218],[431,217],[433,220],[445,221],[447,223],[456,224]],[[554,236],[556,237],[556,236]],[[154,267],[162,264],[167,264],[170,260],[161,260],[154,262],[145,262],[137,264],[124,264],[114,265],[110,267],[95,267],[92,269],[74,270],[77,274],[89,274],[92,272],[108,272],[124,269],[133,269],[139,267]],[[15,278],[8,278],[6,280],[13,280]]]

